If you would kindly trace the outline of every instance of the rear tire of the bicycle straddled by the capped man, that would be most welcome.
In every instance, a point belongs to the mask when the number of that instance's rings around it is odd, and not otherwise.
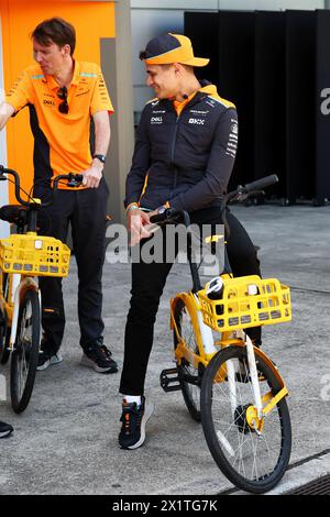
[[[188,310],[185,310],[185,308],[186,306],[184,301],[178,300],[175,307],[175,312],[174,312],[176,327],[180,336],[183,334],[184,317],[186,315],[189,315]],[[195,337],[195,330],[194,330],[194,326],[193,326],[190,317],[188,317],[188,320],[190,320],[191,337],[193,336]],[[174,350],[176,350],[178,345],[178,339],[177,339],[177,334],[175,330],[173,332],[173,338],[174,338]],[[188,345],[188,348],[191,348],[194,352],[197,352],[196,341],[194,343],[188,342],[186,344]],[[178,378],[179,378],[179,383],[182,386],[182,392],[183,392],[183,396],[184,396],[184,400],[187,406],[187,409],[190,416],[194,418],[194,420],[200,422],[200,386],[193,385],[184,380],[186,374],[199,377],[199,373],[185,359],[182,360],[182,364],[178,364],[178,362],[176,362],[176,364],[177,364],[177,371],[178,371]]]

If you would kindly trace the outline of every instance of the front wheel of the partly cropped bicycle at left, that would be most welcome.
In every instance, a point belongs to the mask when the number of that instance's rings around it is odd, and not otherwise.
[[[13,410],[18,414],[26,409],[32,395],[40,338],[41,310],[38,296],[35,290],[26,290],[20,306],[16,340],[10,371],[11,403]],[[25,377],[24,382],[22,381],[23,376]]]

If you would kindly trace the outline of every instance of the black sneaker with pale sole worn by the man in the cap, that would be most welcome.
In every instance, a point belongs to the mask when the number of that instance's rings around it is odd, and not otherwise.
[[[128,404],[123,400],[121,431],[118,440],[121,449],[138,449],[145,440],[145,424],[150,419],[154,407],[152,404],[145,404],[145,397],[142,396],[141,405],[136,403]]]

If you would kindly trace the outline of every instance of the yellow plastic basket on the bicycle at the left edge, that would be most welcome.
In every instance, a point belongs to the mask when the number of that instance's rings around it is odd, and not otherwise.
[[[25,276],[67,276],[70,250],[52,237],[24,234],[0,239],[0,267]]]

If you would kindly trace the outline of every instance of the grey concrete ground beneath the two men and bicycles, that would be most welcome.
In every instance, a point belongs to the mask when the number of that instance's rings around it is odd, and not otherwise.
[[[234,212],[261,246],[263,275],[293,289],[293,322],[264,332],[264,350],[290,392],[297,468],[278,487],[285,492],[330,472],[330,207],[238,207]],[[73,264],[65,280],[65,362],[37,374],[23,415],[14,415],[9,400],[0,403],[1,420],[15,428],[12,438],[0,441],[0,494],[217,494],[232,487],[180,393],[165,394],[158,385],[161,370],[172,365],[168,299],[187,286],[187,268],[174,267],[161,302],[146,383],[156,409],[145,446],[129,452],[117,446],[119,374],[99,375],[79,365],[75,272]],[[106,265],[106,341],[120,365],[129,285],[128,266]],[[1,373],[8,380],[8,367]]]

